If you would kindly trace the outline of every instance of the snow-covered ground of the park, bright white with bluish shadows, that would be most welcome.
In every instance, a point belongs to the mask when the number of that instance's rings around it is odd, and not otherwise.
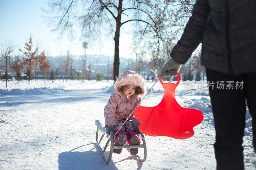
[[[0,119],[8,121],[0,123],[0,169],[216,169],[208,89],[200,85],[187,88],[188,82],[182,81],[176,89],[176,100],[204,114],[204,121],[194,128],[195,135],[185,140],[146,136],[146,162],[141,163],[124,149],[121,154],[113,154],[106,165],[96,144],[94,121],[104,120],[112,83],[56,80],[44,84],[32,80],[30,85],[26,81],[19,85],[8,82],[6,88],[5,82],[0,82]],[[152,85],[147,83],[148,88]],[[143,106],[157,105],[163,94],[157,82]],[[249,113],[246,120],[244,165],[245,169],[255,169]],[[102,147],[106,141],[104,137]],[[143,155],[142,150],[139,154]]]

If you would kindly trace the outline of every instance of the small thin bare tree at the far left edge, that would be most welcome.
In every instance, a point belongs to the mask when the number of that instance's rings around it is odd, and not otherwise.
[[[3,57],[2,62],[4,62],[4,67],[5,67],[5,85],[7,87],[7,81],[8,81],[8,72],[7,72],[7,67],[10,66],[10,55],[14,51],[14,45],[12,41],[4,42],[2,43],[1,46],[1,57]]]

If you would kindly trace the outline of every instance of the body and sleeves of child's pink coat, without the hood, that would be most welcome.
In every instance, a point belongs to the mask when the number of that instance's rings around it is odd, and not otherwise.
[[[115,127],[115,121],[124,122],[126,118],[132,113],[132,111],[140,106],[140,99],[137,98],[136,94],[127,98],[124,93],[122,96],[117,92],[111,94],[108,104],[104,108],[105,127],[113,125]],[[132,120],[134,128],[140,125],[140,122],[132,115],[129,119]]]

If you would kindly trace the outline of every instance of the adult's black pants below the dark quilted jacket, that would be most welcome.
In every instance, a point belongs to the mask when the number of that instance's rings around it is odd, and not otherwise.
[[[206,75],[210,83],[208,85],[216,129],[214,149],[217,169],[244,169],[242,143],[245,128],[245,99],[252,115],[253,146],[256,147],[256,73],[232,76],[206,69]],[[215,84],[212,84],[212,81]],[[234,81],[234,89],[230,87],[226,89],[227,86],[218,89],[220,87],[218,81],[219,83],[224,81],[225,84]],[[243,88],[235,87],[236,81],[243,81]]]

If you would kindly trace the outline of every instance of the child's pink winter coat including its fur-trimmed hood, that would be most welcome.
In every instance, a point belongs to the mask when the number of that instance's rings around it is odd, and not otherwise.
[[[140,93],[134,93],[131,97],[127,98],[121,90],[124,85],[139,86]],[[113,125],[115,121],[124,122],[132,111],[139,106],[141,96],[146,93],[146,81],[136,71],[126,70],[120,77],[118,77],[114,84],[115,92],[111,94],[107,106],[104,108],[105,127]],[[140,125],[140,122],[132,115],[128,120],[132,120],[134,128]]]

